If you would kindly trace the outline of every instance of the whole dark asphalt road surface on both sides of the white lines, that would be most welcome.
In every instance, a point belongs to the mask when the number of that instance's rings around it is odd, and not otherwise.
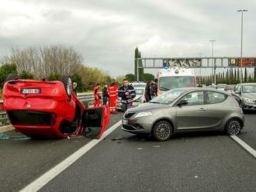
[[[122,114],[112,115],[113,125]],[[256,149],[256,114],[245,115],[240,139]],[[91,141],[1,140],[1,191],[18,191]],[[16,136],[16,137],[14,137]],[[41,191],[255,191],[256,160],[219,132],[154,142],[116,129]]]

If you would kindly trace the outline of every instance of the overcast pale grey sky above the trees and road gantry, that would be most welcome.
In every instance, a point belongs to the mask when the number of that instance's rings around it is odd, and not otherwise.
[[[85,64],[112,76],[133,73],[142,57],[256,56],[255,0],[1,0],[0,57],[12,47],[73,46]]]

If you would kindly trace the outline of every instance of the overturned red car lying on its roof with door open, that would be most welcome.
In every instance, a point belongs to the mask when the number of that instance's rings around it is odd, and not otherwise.
[[[3,105],[13,127],[29,137],[99,138],[109,123],[109,108],[86,108],[69,76],[63,81],[6,81]]]

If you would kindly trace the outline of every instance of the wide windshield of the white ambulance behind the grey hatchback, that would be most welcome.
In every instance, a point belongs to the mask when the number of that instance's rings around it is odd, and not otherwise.
[[[161,91],[168,91],[181,87],[195,87],[194,77],[160,77],[159,89]]]

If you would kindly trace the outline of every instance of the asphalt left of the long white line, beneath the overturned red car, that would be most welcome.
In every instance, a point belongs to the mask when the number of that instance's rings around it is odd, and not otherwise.
[[[121,117],[122,114],[112,115],[109,126]],[[92,140],[84,136],[71,139],[30,139],[14,131],[6,132],[5,135],[10,138],[0,139],[0,191],[21,190]]]

